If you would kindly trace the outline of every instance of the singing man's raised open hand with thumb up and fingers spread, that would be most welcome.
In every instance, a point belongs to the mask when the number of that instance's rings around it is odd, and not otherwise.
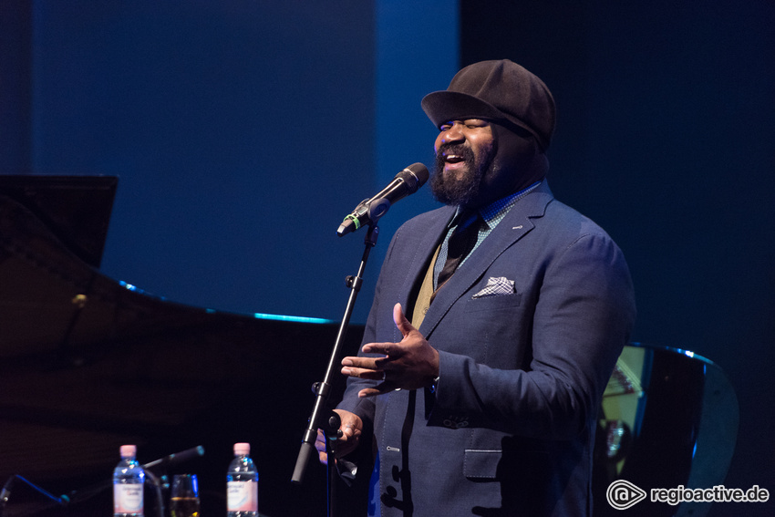
[[[439,352],[409,323],[400,304],[393,307],[393,321],[403,336],[400,343],[363,346],[364,353],[383,354],[382,357],[342,359],[344,375],[382,381],[374,388],[361,389],[358,397],[373,397],[394,389],[425,388],[439,377]]]

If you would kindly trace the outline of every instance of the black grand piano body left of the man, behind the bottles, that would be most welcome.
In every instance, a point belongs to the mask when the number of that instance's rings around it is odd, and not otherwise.
[[[100,274],[115,185],[0,176],[0,484],[17,474],[57,495],[87,487],[75,499],[88,501],[52,514],[107,514],[121,444],[141,463],[202,445],[169,474],[197,473],[203,513],[225,514],[232,445],[249,441],[262,513],[325,511],[324,467],[290,480],[338,324],[174,304]],[[350,327],[349,351],[362,332]],[[26,501],[51,506],[15,482],[5,514]]]

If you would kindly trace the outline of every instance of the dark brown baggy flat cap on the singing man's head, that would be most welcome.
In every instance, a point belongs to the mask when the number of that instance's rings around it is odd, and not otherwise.
[[[425,96],[422,109],[436,127],[462,119],[514,124],[530,131],[542,150],[549,147],[554,132],[552,92],[540,78],[508,59],[463,68],[449,88]]]

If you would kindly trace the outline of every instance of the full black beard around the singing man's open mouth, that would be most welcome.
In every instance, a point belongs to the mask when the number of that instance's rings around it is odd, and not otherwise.
[[[445,153],[457,154],[463,158],[466,167],[460,176],[445,175]],[[473,150],[468,146],[462,144],[441,146],[436,153],[434,173],[430,178],[430,191],[433,197],[444,204],[470,208],[478,206],[482,197],[483,180],[491,170],[496,153],[497,149],[493,144],[477,163]]]

